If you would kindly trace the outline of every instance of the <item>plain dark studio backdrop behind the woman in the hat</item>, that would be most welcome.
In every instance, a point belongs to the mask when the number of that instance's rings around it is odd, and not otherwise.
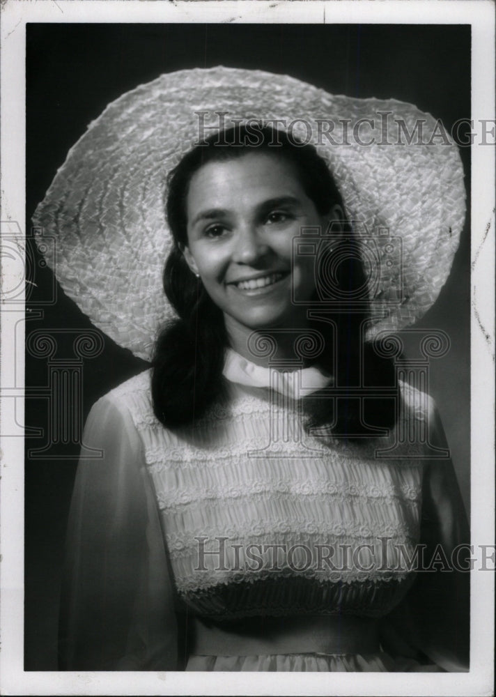
[[[470,26],[290,24],[29,24],[26,35],[26,220],[65,160],[68,149],[108,102],[162,72],[182,68],[259,68],[307,80],[334,93],[413,102],[451,129],[470,118]],[[466,133],[466,129],[465,129]],[[464,136],[464,130],[460,130]],[[470,192],[470,150],[461,155]],[[470,210],[468,215],[470,216]],[[470,219],[470,218],[469,218]],[[29,234],[29,229],[27,230]],[[34,253],[34,252],[33,252]],[[47,328],[88,328],[88,319],[33,265],[36,287],[26,334]],[[29,307],[29,306],[28,306]],[[430,392],[447,432],[465,505],[470,503],[470,235],[465,225],[449,281],[419,327],[451,339],[446,357],[431,362]],[[72,339],[59,339],[61,358]],[[84,363],[84,412],[146,364],[107,339]],[[26,356],[26,385],[44,385],[45,359]],[[47,428],[47,404],[26,400],[26,424]],[[29,447],[42,440],[28,438]],[[26,461],[25,668],[56,670],[56,625],[65,521],[77,448],[62,459]],[[68,459],[70,454],[74,459]]]

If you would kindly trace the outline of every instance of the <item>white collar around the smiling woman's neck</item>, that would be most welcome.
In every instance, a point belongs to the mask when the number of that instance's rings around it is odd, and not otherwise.
[[[223,375],[231,383],[255,388],[272,388],[293,399],[311,395],[332,382],[332,376],[325,375],[316,367],[300,368],[294,371],[281,371],[264,368],[243,358],[228,348]]]

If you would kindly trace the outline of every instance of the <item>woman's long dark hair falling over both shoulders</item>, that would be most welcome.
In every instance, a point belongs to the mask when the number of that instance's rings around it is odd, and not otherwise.
[[[222,311],[191,272],[182,251],[187,245],[187,194],[195,172],[208,162],[233,160],[250,152],[275,154],[293,165],[319,215],[329,213],[335,204],[342,206],[341,194],[327,164],[313,146],[295,144],[285,132],[273,128],[261,127],[258,132],[261,137],[256,144],[251,132],[242,125],[214,135],[189,151],[169,175],[165,206],[173,248],[166,259],[163,281],[178,319],[169,322],[157,339],[152,377],[155,415],[169,428],[191,423],[221,397],[228,346]],[[346,263],[335,269],[335,281],[345,294],[365,286],[357,245],[352,236],[347,235],[346,239]],[[318,365],[334,374],[339,387],[357,387],[363,378],[366,385],[377,387],[392,387],[395,383],[392,362],[380,358],[371,344],[364,344],[361,339],[362,325],[368,316],[362,304],[355,305],[352,312],[343,312],[341,308],[331,323],[314,322],[327,347],[319,356]],[[339,337],[335,348],[334,336]],[[365,400],[362,415],[359,399],[352,397],[338,399],[334,404],[334,399],[319,398],[315,393],[304,399],[304,405],[308,427],[327,426],[336,434],[349,434],[350,438],[362,429],[362,417],[375,427],[390,427],[395,420],[391,399]]]

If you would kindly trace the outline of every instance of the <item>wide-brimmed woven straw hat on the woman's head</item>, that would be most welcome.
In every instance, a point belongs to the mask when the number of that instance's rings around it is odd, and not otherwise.
[[[336,96],[286,75],[199,68],[161,75],[112,102],[71,148],[36,208],[38,243],[56,238],[45,245],[54,249],[49,266],[98,328],[149,359],[157,329],[173,316],[162,290],[171,247],[166,175],[199,128],[219,128],[215,112],[228,112],[226,125],[277,118],[278,128],[316,145],[369,270],[369,339],[431,307],[465,217],[458,148],[435,119],[405,102]],[[405,133],[419,123],[421,141],[408,144]]]

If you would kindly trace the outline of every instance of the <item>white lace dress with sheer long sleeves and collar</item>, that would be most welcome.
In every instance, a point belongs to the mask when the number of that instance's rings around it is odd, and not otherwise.
[[[274,390],[230,351],[224,375],[228,399],[173,432],[148,371],[93,406],[84,445],[102,457],[77,472],[61,667],[466,670],[468,574],[409,567],[419,541],[447,560],[467,542],[431,399],[402,385],[410,437],[346,445],[304,430],[295,385],[322,387],[315,369]]]

